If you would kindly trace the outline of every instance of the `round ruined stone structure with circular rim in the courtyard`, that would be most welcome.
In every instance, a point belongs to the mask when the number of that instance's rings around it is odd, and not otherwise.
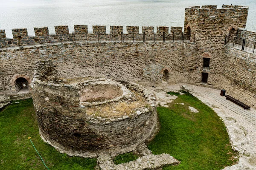
[[[154,95],[136,83],[57,77],[39,61],[31,84],[41,138],[70,156],[111,156],[135,150],[157,123]]]

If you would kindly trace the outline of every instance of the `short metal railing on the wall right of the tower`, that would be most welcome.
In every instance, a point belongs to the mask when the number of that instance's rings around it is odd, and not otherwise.
[[[230,45],[234,48],[254,53],[255,47],[256,47],[256,41],[246,40],[244,38],[226,35],[225,45]]]

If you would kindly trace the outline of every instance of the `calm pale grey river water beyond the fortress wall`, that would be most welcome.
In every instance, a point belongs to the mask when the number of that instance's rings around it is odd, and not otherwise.
[[[201,5],[250,6],[246,29],[256,31],[256,0],[0,0],[0,29],[12,37],[12,28],[93,25],[107,26],[182,26],[185,8]],[[126,27],[124,27],[126,31]]]

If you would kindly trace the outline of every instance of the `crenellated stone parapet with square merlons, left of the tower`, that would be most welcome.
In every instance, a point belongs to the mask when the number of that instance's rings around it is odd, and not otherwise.
[[[110,26],[110,33],[106,26],[93,26],[93,32],[88,32],[87,25],[74,25],[74,30],[70,33],[68,26],[55,26],[55,34],[49,34],[48,27],[34,27],[35,36],[29,36],[26,28],[15,28],[12,29],[13,38],[6,37],[5,30],[0,30],[0,48],[67,41],[163,41],[163,33],[167,41],[183,39],[182,27],[171,27],[170,34],[166,26],[157,26],[156,32],[153,26],[143,26],[141,34],[139,26],[127,26],[126,32],[123,26]]]

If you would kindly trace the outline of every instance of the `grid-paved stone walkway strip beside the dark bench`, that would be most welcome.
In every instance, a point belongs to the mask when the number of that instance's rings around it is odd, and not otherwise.
[[[250,125],[253,125],[256,128],[256,111],[254,109],[245,110],[244,108],[236,105],[235,103],[227,100],[225,96],[216,95],[210,92],[204,92],[204,95],[207,95],[214,99],[216,102],[220,103],[224,107],[230,109],[240,116],[244,117],[245,120],[248,121]]]

